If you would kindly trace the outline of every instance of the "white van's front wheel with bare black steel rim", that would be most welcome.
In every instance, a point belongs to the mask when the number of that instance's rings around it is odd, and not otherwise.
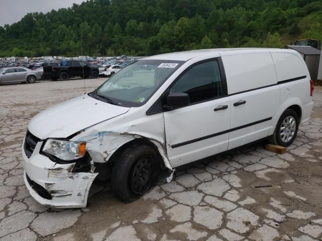
[[[112,171],[112,190],[124,202],[147,193],[159,177],[159,158],[148,145],[134,145],[122,152]]]

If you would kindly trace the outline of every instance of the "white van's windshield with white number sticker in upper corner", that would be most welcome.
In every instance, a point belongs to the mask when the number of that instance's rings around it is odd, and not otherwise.
[[[141,106],[183,63],[184,61],[139,60],[113,75],[95,94],[114,104]]]

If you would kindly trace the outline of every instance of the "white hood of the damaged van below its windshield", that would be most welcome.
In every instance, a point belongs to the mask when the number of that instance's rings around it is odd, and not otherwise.
[[[128,107],[102,102],[86,94],[40,112],[31,119],[28,130],[40,139],[66,138],[128,110]]]

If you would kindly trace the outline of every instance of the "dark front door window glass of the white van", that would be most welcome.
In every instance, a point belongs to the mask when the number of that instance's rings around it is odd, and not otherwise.
[[[198,64],[184,73],[171,87],[170,93],[187,93],[190,103],[205,101],[222,94],[216,60]]]

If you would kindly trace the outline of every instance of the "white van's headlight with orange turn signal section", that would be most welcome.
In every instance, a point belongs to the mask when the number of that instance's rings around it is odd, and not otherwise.
[[[48,139],[42,151],[61,160],[75,160],[84,157],[86,153],[86,142],[69,142]]]

